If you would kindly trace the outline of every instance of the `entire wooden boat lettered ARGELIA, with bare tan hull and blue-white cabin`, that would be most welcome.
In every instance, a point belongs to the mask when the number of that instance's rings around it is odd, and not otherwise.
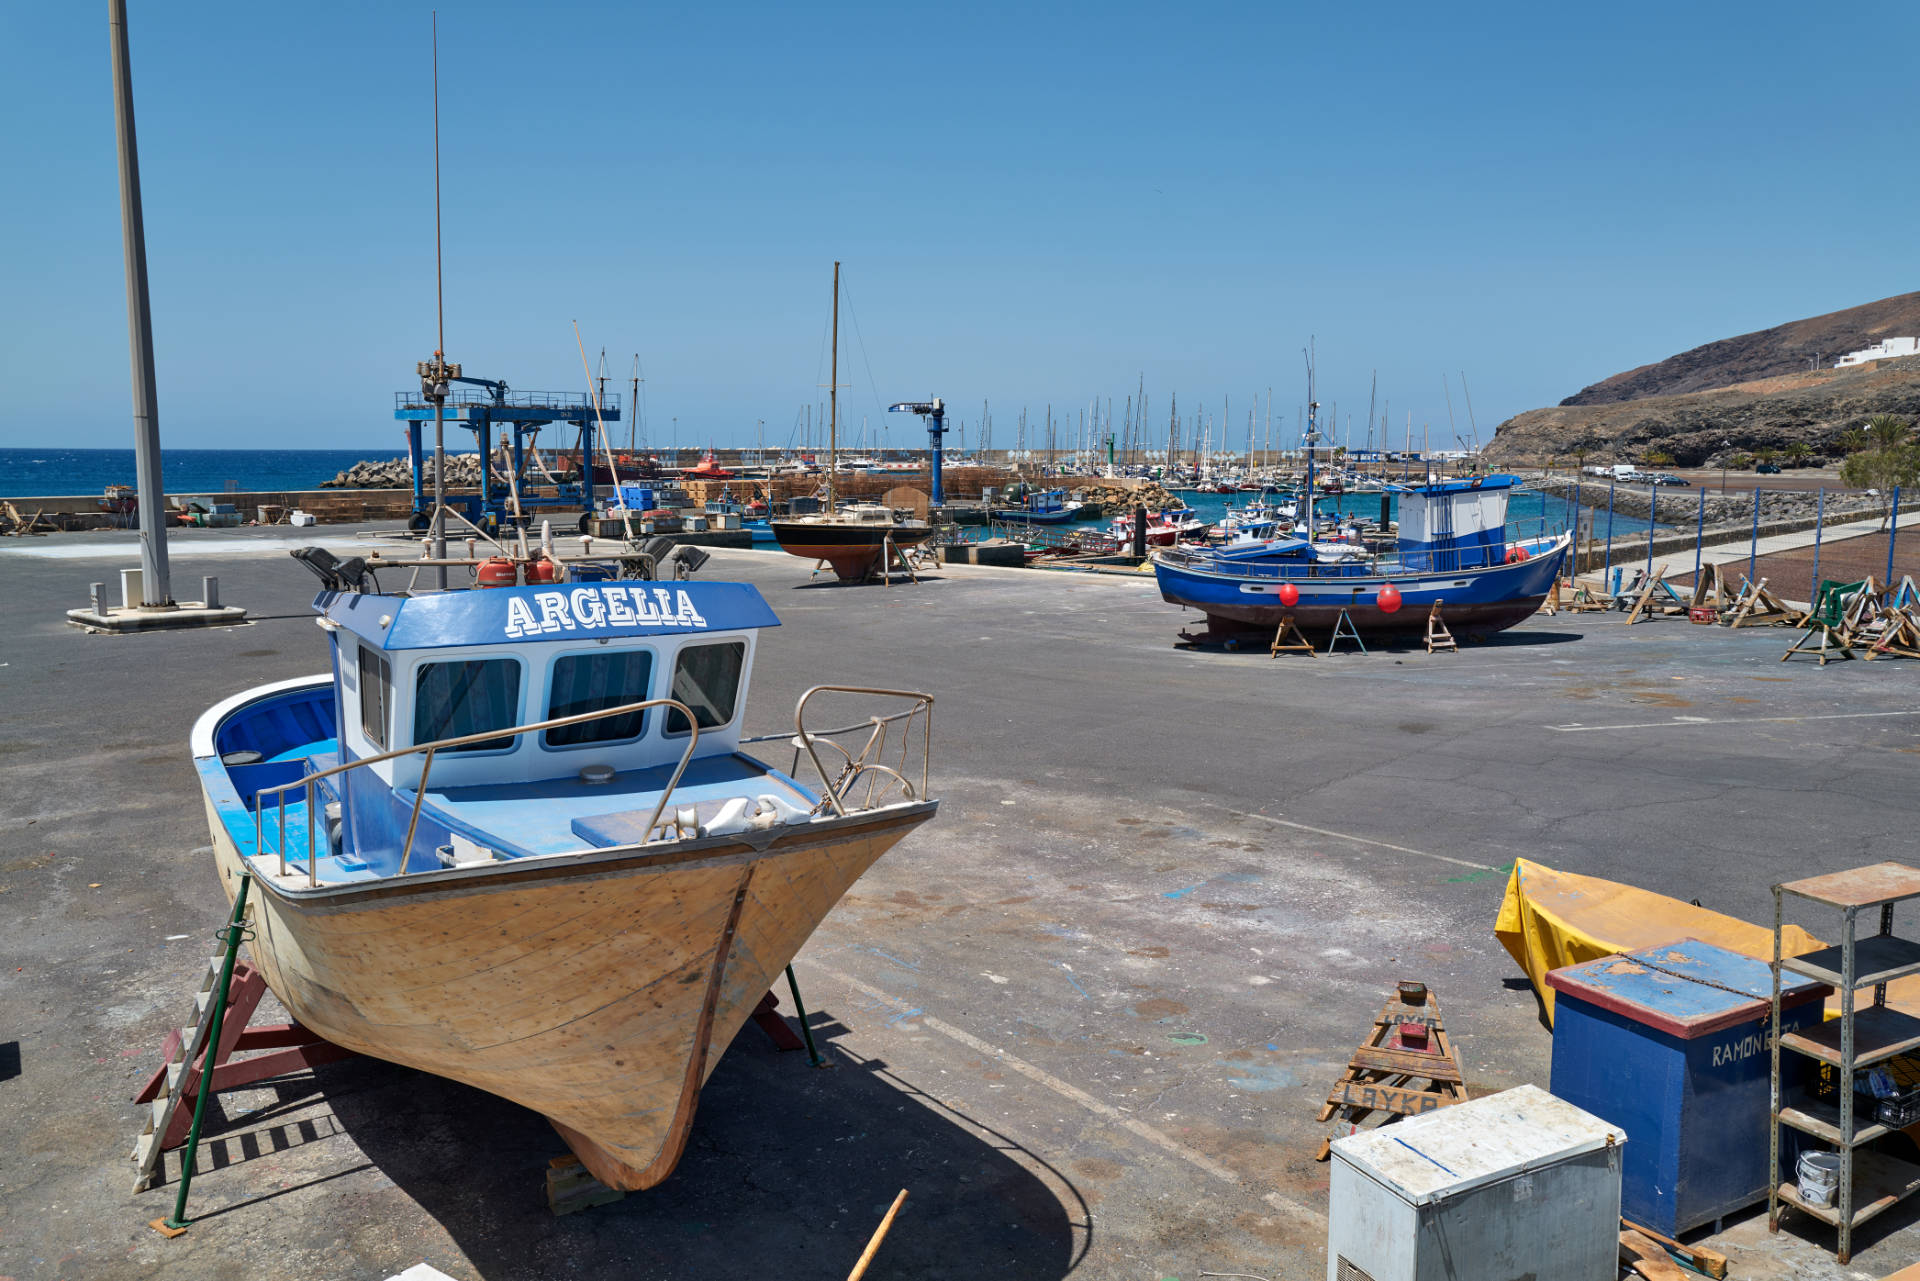
[[[808,691],[783,772],[741,739],[780,622],[747,584],[326,590],[315,609],[330,670],[238,693],[192,736],[221,883],[253,882],[253,964],[328,1041],[545,1114],[612,1187],[659,1183],[762,993],[933,816],[931,697]],[[906,711],[849,749],[804,724],[822,693]]]

